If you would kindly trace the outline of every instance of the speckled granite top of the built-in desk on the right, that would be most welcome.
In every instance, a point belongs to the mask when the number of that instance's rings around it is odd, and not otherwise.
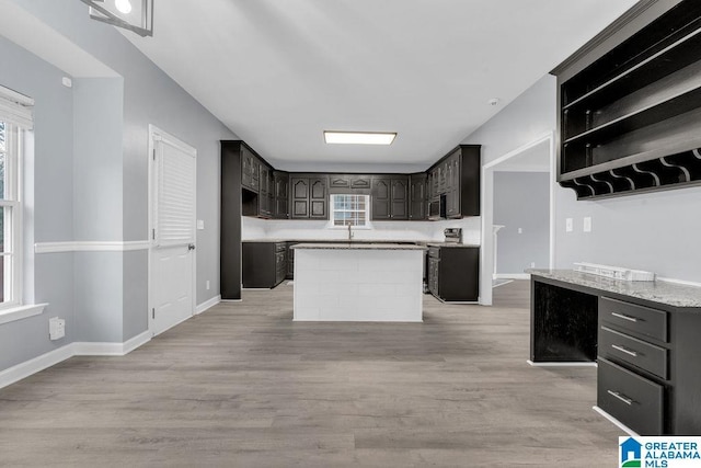
[[[687,286],[663,281],[629,282],[574,270],[526,270],[526,273],[607,293],[650,300],[651,303],[683,308],[701,308],[701,287],[699,286]]]

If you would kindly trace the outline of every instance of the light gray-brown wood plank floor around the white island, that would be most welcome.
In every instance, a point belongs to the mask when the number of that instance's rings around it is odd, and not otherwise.
[[[125,357],[0,390],[1,466],[604,467],[595,368],[528,358],[528,283],[424,323],[292,323],[292,287],[244,292]]]

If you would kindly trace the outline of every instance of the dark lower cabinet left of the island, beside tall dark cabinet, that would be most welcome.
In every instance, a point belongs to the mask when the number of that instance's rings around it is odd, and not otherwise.
[[[243,287],[273,288],[287,276],[287,242],[241,244]]]

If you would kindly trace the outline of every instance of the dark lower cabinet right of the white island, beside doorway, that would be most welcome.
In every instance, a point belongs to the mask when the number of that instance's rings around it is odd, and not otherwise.
[[[480,294],[480,248],[429,246],[428,292],[444,301],[472,303]]]

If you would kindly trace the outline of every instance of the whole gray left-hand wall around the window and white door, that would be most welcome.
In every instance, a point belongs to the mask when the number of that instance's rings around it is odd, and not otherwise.
[[[11,0],[120,78],[72,77],[0,37],[0,84],[35,99],[36,242],[143,241],[148,238],[148,125],[197,149],[196,303],[219,294],[219,140],[237,139],[217,118],[114,27],[88,18],[79,1]],[[147,330],[148,254],[36,254],[35,318],[0,326],[0,370],[72,341],[124,342]],[[209,281],[211,288],[206,289]],[[67,338],[47,339],[48,317],[67,319]]]

